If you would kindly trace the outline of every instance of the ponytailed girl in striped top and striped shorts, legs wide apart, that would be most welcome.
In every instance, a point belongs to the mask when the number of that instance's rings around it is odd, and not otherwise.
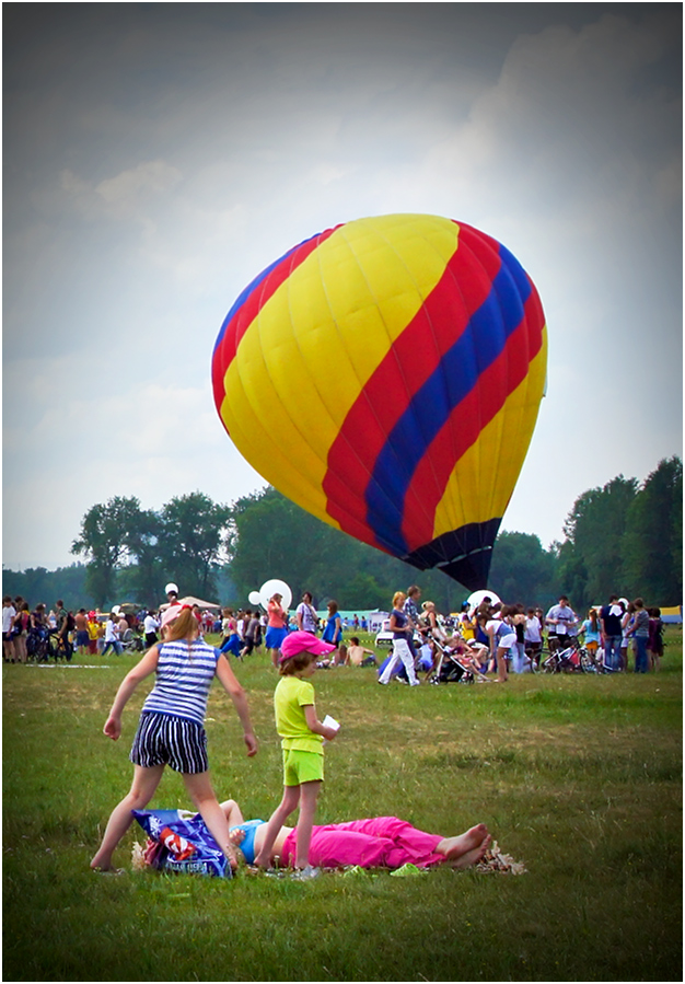
[[[124,678],[103,729],[113,741],[119,738],[127,701],[142,680],[155,673],[155,684],[143,704],[130,753],[133,783],[129,794],[114,808],[103,842],[91,861],[91,868],[97,871],[118,873],[112,866],[114,849],[132,822],[131,810],[144,810],[154,796],[165,765],[182,774],[214,841],[231,867],[237,865],[225,814],[209,777],[205,715],[209,688],[218,676],[243,725],[247,755],[255,755],[257,740],[247,698],[227,658],[199,638],[197,620],[189,605],[169,607],[162,617],[162,629],[164,641],[149,649]]]

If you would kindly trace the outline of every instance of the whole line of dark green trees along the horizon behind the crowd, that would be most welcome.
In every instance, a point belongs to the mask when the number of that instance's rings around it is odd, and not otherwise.
[[[611,592],[680,604],[682,499],[680,458],[661,461],[641,484],[619,475],[579,496],[564,540],[548,548],[531,533],[500,533],[489,587],[510,602],[543,606],[565,593],[579,611]],[[116,496],[89,509],[71,549],[85,560],[61,568],[70,590],[81,590],[74,604],[90,600],[103,610],[123,600],[156,606],[167,581],[182,594],[234,606],[247,605],[249,592],[271,577],[290,584],[295,599],[307,590],[318,606],[335,599],[349,610],[387,609],[393,592],[415,581],[443,612],[458,610],[469,593],[440,571],[418,571],[359,543],[271,487],[232,506],[195,491],[159,511]],[[42,595],[53,577],[44,568],[3,569],[3,591],[49,602]]]

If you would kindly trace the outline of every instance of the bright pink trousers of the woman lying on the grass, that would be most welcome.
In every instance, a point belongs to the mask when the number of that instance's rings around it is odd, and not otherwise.
[[[297,829],[283,844],[282,865],[295,859]],[[400,868],[413,864],[418,868],[444,861],[444,855],[436,854],[442,837],[425,834],[405,820],[396,817],[373,817],[370,820],[348,820],[314,826],[310,846],[310,865],[336,868],[359,865],[362,868]]]

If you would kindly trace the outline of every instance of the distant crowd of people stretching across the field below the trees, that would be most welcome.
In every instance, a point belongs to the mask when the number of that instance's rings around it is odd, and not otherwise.
[[[479,678],[504,682],[510,673],[539,668],[543,646],[554,651],[582,640],[593,661],[607,672],[634,669],[637,673],[659,670],[663,655],[663,623],[658,607],[646,607],[641,598],[629,602],[612,594],[603,606],[591,607],[585,617],[572,610],[561,595],[547,613],[521,603],[503,604],[487,595],[477,606],[462,605],[461,613],[442,616],[432,601],[420,601],[421,590],[410,584],[393,597],[388,629],[392,652],[380,670],[383,685],[394,678],[416,686],[419,674],[433,671],[441,653],[455,652]],[[200,635],[219,634],[221,652],[245,658],[266,647],[271,664],[278,668],[281,645],[293,632],[320,635],[330,643],[329,657],[321,667],[376,665],[375,650],[363,647],[357,632],[368,629],[365,616],[342,617],[336,601],[327,603],[321,618],[305,591],[294,611],[283,607],[275,593],[267,610],[224,607],[221,616],[208,609],[191,606]],[[69,660],[79,655],[120,655],[125,649],[142,649],[159,641],[165,607],[177,603],[177,593],[167,594],[166,605],[138,613],[115,609],[109,613],[67,611],[61,599],[53,609],[37,604],[32,611],[23,598],[5,595],[2,602],[2,648],[5,662],[26,662],[36,643],[53,637],[55,651]],[[355,633],[348,635],[350,629]]]

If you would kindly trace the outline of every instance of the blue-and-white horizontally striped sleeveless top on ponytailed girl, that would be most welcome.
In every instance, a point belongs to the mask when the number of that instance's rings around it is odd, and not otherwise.
[[[142,705],[143,711],[170,714],[202,725],[218,658],[218,650],[201,639],[189,646],[187,639],[164,643],[160,646],[154,687]]]

